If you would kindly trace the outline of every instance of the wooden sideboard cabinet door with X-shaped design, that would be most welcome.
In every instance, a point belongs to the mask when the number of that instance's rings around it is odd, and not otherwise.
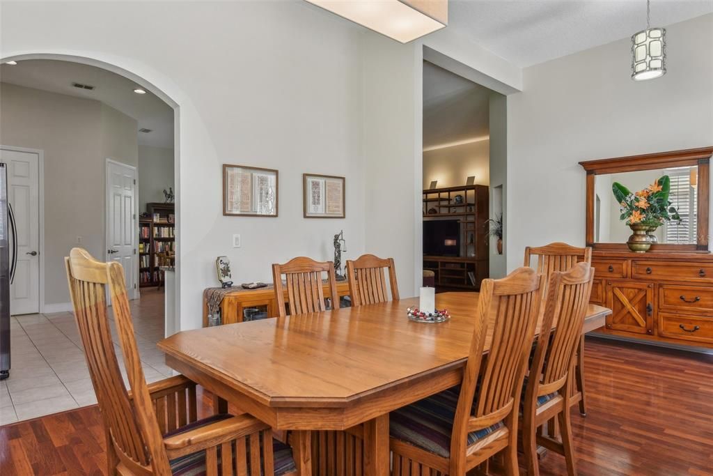
[[[652,334],[654,330],[654,285],[636,281],[607,281],[607,329]]]

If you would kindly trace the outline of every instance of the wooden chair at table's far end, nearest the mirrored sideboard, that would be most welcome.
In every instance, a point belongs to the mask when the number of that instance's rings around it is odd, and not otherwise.
[[[568,271],[580,262],[592,263],[592,248],[578,248],[567,243],[550,243],[540,247],[525,248],[525,266],[530,266],[533,258],[537,258],[534,268],[538,273],[543,273],[546,278],[555,271]],[[587,416],[587,400],[585,397],[584,382],[584,335],[580,335],[580,342],[577,348],[577,363],[575,367],[576,389],[580,394],[579,409],[580,414]],[[575,405],[577,399],[572,400]]]

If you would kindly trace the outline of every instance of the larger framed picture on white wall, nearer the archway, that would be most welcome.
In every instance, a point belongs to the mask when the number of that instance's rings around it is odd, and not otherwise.
[[[277,171],[223,164],[224,216],[277,216]]]

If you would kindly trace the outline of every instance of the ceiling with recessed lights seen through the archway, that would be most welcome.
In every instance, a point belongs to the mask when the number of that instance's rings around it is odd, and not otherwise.
[[[32,59],[15,66],[0,66],[0,81],[78,98],[95,99],[138,121],[138,128],[152,129],[138,134],[141,146],[173,148],[173,108],[150,92],[134,93],[133,81],[106,69],[69,61]],[[90,84],[93,91],[72,83]]]

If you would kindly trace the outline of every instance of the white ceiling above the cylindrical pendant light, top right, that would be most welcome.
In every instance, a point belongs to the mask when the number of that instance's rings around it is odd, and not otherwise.
[[[711,12],[713,0],[652,0],[651,24],[667,26]],[[520,67],[645,28],[645,0],[450,0],[448,9],[448,29]]]

